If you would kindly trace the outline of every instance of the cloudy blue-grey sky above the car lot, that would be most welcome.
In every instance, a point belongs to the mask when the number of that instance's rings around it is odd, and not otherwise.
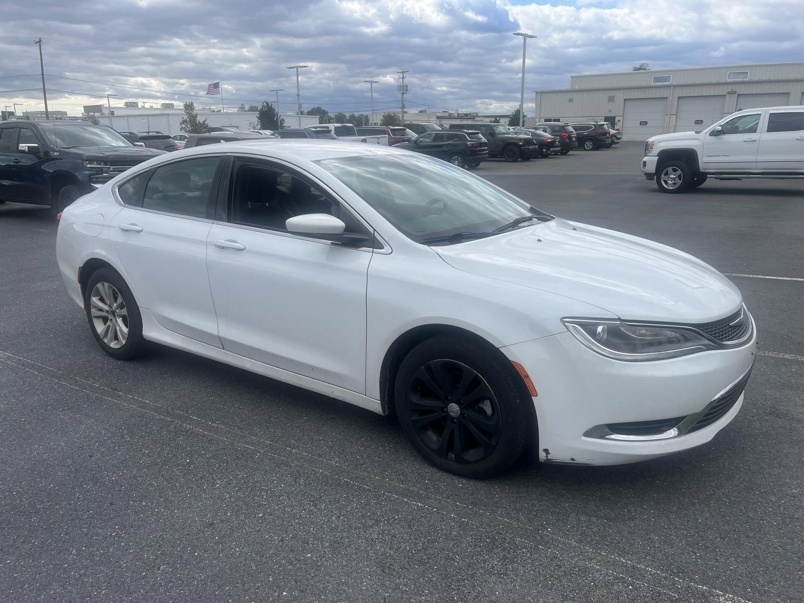
[[[203,97],[214,80],[228,106],[285,88],[281,108],[293,111],[293,64],[310,65],[305,109],[367,112],[368,79],[379,80],[375,109],[398,108],[396,72],[408,69],[408,110],[511,110],[522,60],[515,31],[539,36],[527,48],[526,102],[536,88],[566,87],[571,73],[642,61],[804,59],[802,0],[32,0],[3,4],[0,105],[43,108],[41,37],[51,109],[70,113],[105,103],[107,92],[118,95],[113,104],[219,105]]]

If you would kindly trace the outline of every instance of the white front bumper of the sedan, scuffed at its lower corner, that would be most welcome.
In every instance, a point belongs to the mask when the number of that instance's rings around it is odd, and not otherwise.
[[[745,346],[681,358],[630,363],[608,359],[561,333],[503,347],[535,384],[542,461],[619,465],[705,444],[740,412],[740,394],[711,425],[663,439],[616,440],[590,435],[599,425],[697,415],[752,367],[756,330]]]

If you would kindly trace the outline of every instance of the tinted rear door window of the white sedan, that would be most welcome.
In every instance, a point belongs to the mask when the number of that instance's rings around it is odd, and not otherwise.
[[[142,207],[205,217],[219,162],[218,157],[201,157],[156,168],[146,185]]]

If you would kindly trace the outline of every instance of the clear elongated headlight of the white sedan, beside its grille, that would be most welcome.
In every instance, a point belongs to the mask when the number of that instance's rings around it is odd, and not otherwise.
[[[634,325],[595,318],[564,318],[561,322],[590,350],[626,362],[720,350],[720,346],[704,335],[677,326]]]

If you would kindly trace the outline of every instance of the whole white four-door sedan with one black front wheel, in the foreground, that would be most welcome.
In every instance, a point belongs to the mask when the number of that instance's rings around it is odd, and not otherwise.
[[[57,238],[109,355],[162,343],[395,412],[422,456],[473,478],[526,449],[605,465],[704,444],[756,351],[704,262],[387,146],[162,155],[69,206]]]

